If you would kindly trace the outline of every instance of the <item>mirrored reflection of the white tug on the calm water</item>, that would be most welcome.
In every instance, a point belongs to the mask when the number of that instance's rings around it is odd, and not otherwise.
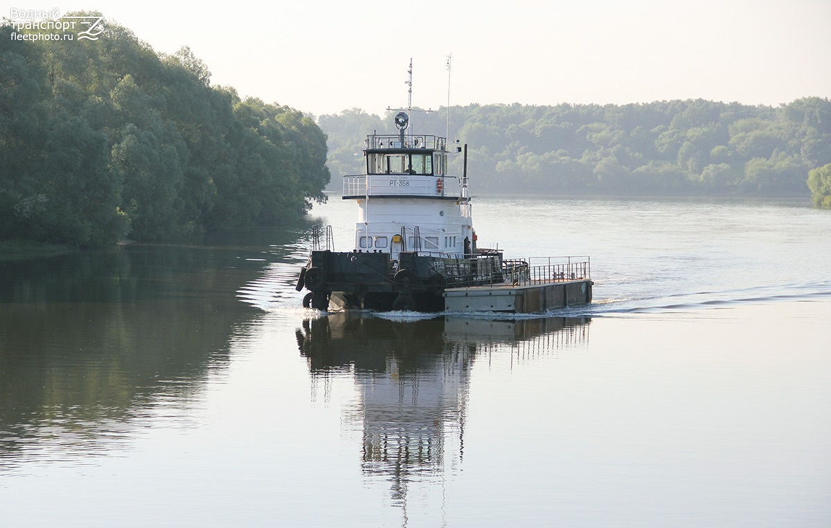
[[[391,482],[406,507],[410,482],[440,480],[465,454],[465,411],[476,361],[510,365],[586,345],[588,318],[387,320],[337,313],[297,330],[312,383],[352,376],[344,423],[361,432],[361,468]]]

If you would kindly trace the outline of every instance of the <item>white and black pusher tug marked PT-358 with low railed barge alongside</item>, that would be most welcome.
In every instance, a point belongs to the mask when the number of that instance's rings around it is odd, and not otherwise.
[[[538,312],[592,301],[588,257],[505,260],[477,247],[467,178],[447,171],[447,139],[406,134],[366,137],[366,174],[343,177],[344,200],[355,200],[355,248],[334,251],[319,237],[297,278],[317,310]]]

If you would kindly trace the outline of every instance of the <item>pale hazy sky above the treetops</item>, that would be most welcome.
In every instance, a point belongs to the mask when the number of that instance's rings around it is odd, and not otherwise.
[[[311,112],[831,96],[831,0],[12,3],[98,10],[214,85]]]

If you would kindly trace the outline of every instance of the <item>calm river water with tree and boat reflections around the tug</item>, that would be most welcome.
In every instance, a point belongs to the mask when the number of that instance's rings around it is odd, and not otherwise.
[[[831,526],[831,212],[477,198],[592,306],[300,307],[312,225],[0,261],[0,526]]]

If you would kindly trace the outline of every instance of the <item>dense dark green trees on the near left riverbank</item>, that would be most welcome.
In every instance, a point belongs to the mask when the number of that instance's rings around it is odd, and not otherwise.
[[[103,27],[96,41],[19,40],[43,30],[0,22],[0,240],[170,241],[325,198],[312,118],[211,86],[186,47],[163,55]]]

